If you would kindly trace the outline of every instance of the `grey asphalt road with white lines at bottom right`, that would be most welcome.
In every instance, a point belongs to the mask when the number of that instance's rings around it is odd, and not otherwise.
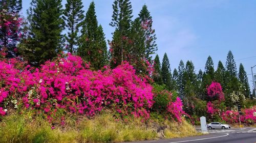
[[[228,129],[228,130],[211,130],[207,135],[174,138],[174,139],[160,139],[160,140],[148,140],[137,141],[130,143],[179,143],[179,142],[191,142],[191,143],[256,143],[256,128],[244,128]]]

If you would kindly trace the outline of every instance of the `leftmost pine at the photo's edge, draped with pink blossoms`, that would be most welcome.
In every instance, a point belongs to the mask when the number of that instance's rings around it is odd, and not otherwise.
[[[0,0],[0,51],[7,52],[6,58],[17,56],[16,47],[21,33],[19,11],[22,1]]]

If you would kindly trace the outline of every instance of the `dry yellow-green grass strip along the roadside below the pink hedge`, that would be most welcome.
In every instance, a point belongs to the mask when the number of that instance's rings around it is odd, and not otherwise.
[[[76,122],[67,118],[65,128],[51,124],[40,116],[9,115],[0,122],[0,142],[121,142],[158,139],[156,126],[163,126],[166,138],[198,135],[187,122],[166,121],[154,115],[146,123],[140,119],[116,121],[111,114],[105,113],[94,119],[80,119]]]

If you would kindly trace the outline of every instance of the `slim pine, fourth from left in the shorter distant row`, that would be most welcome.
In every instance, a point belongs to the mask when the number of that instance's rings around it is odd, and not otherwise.
[[[184,83],[184,72],[185,72],[185,66],[183,61],[180,61],[179,67],[178,67],[178,72],[179,72],[179,76],[178,76],[178,85],[179,85],[179,94],[180,97],[183,98],[184,96],[184,89],[185,89],[185,83]]]

